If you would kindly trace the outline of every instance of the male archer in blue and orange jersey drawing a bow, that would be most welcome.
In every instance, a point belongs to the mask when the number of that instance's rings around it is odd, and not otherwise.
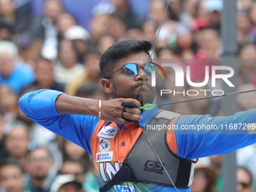
[[[143,62],[151,59],[151,47],[149,41],[125,40],[102,54],[101,83],[110,100],[84,99],[55,90],[37,90],[20,99],[20,108],[28,117],[92,155],[100,191],[190,191],[197,158],[256,142],[256,136],[247,133],[247,126],[256,122],[255,109],[229,117],[139,110],[143,102],[154,102],[151,72],[155,66]],[[245,129],[232,135],[222,134],[227,133],[223,129],[200,133],[180,129],[230,123],[242,123]],[[179,129],[156,132],[146,128],[159,124]]]

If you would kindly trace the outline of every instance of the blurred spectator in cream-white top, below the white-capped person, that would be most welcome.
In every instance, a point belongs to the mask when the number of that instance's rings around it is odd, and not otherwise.
[[[85,74],[84,66],[77,62],[78,56],[72,45],[72,41],[63,39],[59,42],[59,66],[54,69],[55,80],[62,84],[68,84],[75,78]]]

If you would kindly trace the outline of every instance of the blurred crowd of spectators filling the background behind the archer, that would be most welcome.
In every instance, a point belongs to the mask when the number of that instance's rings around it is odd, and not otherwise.
[[[90,2],[90,0],[84,0]],[[190,79],[203,82],[206,66],[221,65],[221,0],[99,0],[90,10],[87,28],[61,0],[42,1],[41,15],[32,1],[0,0],[0,192],[98,191],[90,154],[32,122],[18,106],[24,93],[53,89],[72,96],[109,99],[100,85],[99,58],[123,39],[157,40],[153,59],[169,59]],[[36,2],[36,1],[35,1]],[[75,1],[72,1],[75,4]],[[79,8],[74,5],[75,8]],[[79,8],[81,9],[81,8]],[[166,12],[166,17],[163,15]],[[74,13],[74,11],[73,11]],[[88,15],[88,13],[84,13]],[[80,22],[78,22],[78,20]],[[163,25],[161,26],[163,20]],[[256,89],[256,1],[237,0],[237,82],[239,91]],[[157,35],[159,33],[159,35]],[[175,87],[173,70],[157,89],[198,90],[197,96],[157,96],[157,102],[211,96],[204,87]],[[173,81],[172,81],[173,80]],[[217,84],[221,89],[221,84]],[[239,110],[256,108],[256,93],[237,96]],[[221,114],[220,99],[167,106],[182,114]],[[254,191],[256,146],[239,149],[237,190]],[[221,155],[200,160],[192,192],[221,191]]]

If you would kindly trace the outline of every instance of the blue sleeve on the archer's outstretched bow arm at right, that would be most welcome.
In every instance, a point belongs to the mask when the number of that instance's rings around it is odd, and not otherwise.
[[[178,128],[175,130],[178,155],[185,159],[194,159],[226,154],[251,145],[256,142],[256,134],[247,133],[248,123],[256,125],[255,108],[226,117],[209,115],[179,117],[175,123]],[[190,126],[190,130],[181,130],[181,127],[185,126]],[[193,130],[193,127],[197,129]]]

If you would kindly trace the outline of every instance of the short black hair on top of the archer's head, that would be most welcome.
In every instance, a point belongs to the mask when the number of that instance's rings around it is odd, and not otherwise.
[[[99,60],[99,69],[103,78],[107,78],[112,73],[114,65],[123,57],[130,53],[145,51],[148,53],[151,50],[152,44],[150,41],[138,40],[123,40],[113,44],[104,53]],[[148,53],[150,56],[150,54]]]

